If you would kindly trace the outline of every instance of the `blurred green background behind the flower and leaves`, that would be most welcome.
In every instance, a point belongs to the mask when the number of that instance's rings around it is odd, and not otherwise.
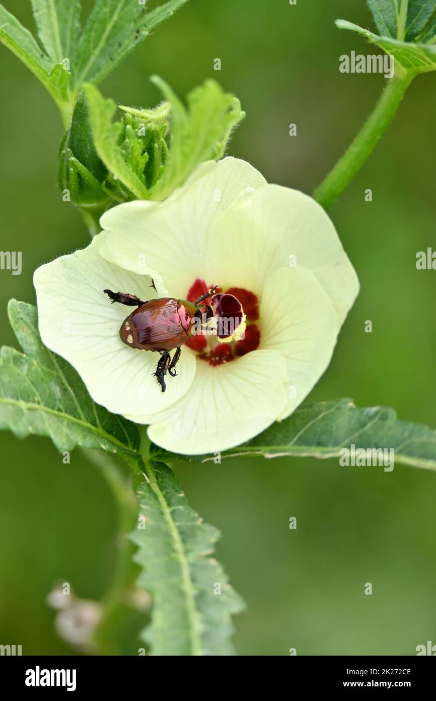
[[[4,4],[33,29],[29,3]],[[83,2],[89,11],[90,2]],[[339,55],[374,53],[339,32],[345,18],[372,28],[363,0],[191,0],[127,57],[101,90],[121,104],[160,100],[160,74],[185,95],[213,76],[247,116],[230,144],[269,182],[311,193],[342,154],[383,86],[339,73]],[[220,57],[221,72],[213,71]],[[21,250],[22,275],[1,271],[1,341],[10,297],[34,302],[36,266],[87,245],[56,184],[57,108],[0,47],[1,247]],[[361,292],[328,372],[311,398],[386,404],[436,426],[435,271],[416,252],[436,248],[436,76],[416,79],[370,161],[330,215]],[[297,123],[297,137],[288,125]],[[373,202],[365,203],[371,188]],[[373,332],[364,332],[372,320]],[[24,654],[66,654],[45,596],[55,580],[100,599],[113,572],[117,512],[83,453],[71,464],[48,440],[1,435],[0,643]],[[436,475],[398,465],[341,468],[335,460],[241,459],[176,468],[192,506],[223,537],[218,559],[248,610],[235,620],[240,655],[412,655],[436,643]],[[290,531],[289,518],[297,517]],[[364,585],[371,582],[372,596]],[[136,629],[118,652],[135,654]]]

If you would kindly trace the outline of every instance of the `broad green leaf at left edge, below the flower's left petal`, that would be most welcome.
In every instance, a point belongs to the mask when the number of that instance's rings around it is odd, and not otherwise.
[[[136,456],[135,424],[94,404],[71,365],[43,346],[36,308],[13,299],[8,314],[24,353],[1,348],[0,428],[48,436],[61,451],[80,445]]]

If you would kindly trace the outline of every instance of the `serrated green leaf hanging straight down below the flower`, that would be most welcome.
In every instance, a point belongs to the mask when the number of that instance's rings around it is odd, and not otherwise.
[[[146,474],[148,483],[137,489],[139,527],[131,536],[139,585],[154,597],[143,639],[152,655],[231,655],[230,615],[243,604],[210,557],[219,532],[190,508],[167,465],[151,462]]]

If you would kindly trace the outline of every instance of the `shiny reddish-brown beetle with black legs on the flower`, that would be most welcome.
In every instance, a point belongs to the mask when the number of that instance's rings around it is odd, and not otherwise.
[[[153,280],[150,286],[156,289]],[[200,320],[208,320],[213,316],[213,308],[209,304],[202,305],[201,303],[211,297],[217,287],[218,285],[212,287],[195,302],[190,302],[187,299],[175,299],[174,297],[143,301],[139,297],[135,297],[134,294],[104,290],[112,304],[119,302],[125,306],[137,307],[122,322],[120,338],[131,348],[160,353],[154,376],[157,378],[162,392],[166,389],[164,377],[167,372],[171,377],[175,377],[177,374],[174,368],[181,355],[181,346],[198,333],[201,328]],[[223,295],[216,295],[216,297],[221,298]],[[176,348],[176,353],[171,360],[169,351],[173,351],[174,348]]]

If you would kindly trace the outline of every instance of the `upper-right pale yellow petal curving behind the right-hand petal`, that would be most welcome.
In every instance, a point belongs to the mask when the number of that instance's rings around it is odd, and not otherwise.
[[[208,275],[223,287],[246,287],[260,297],[274,270],[291,266],[315,273],[340,327],[358,294],[358,278],[315,200],[265,185],[242,193],[211,229]]]

